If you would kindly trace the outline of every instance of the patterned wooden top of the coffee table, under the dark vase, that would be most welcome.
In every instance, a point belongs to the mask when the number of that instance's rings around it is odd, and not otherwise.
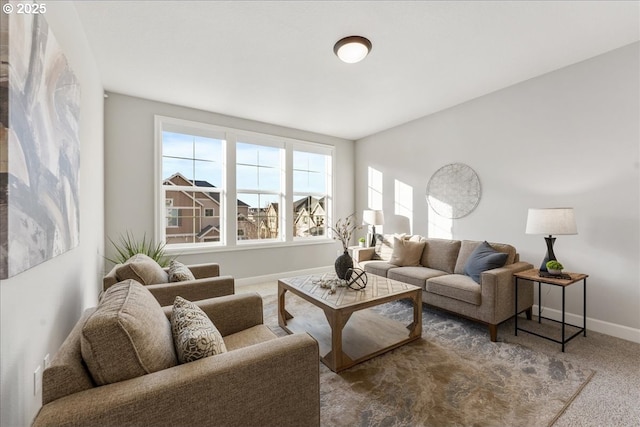
[[[323,288],[319,280],[336,279],[335,273],[316,274],[309,276],[290,277],[280,279],[279,282],[292,290],[304,294],[321,305],[333,309],[341,309],[353,305],[376,305],[384,300],[393,301],[398,295],[411,294],[418,286],[397,280],[387,279],[375,274],[367,274],[367,286],[363,290],[353,290],[347,286],[336,287],[332,294],[329,288]]]

